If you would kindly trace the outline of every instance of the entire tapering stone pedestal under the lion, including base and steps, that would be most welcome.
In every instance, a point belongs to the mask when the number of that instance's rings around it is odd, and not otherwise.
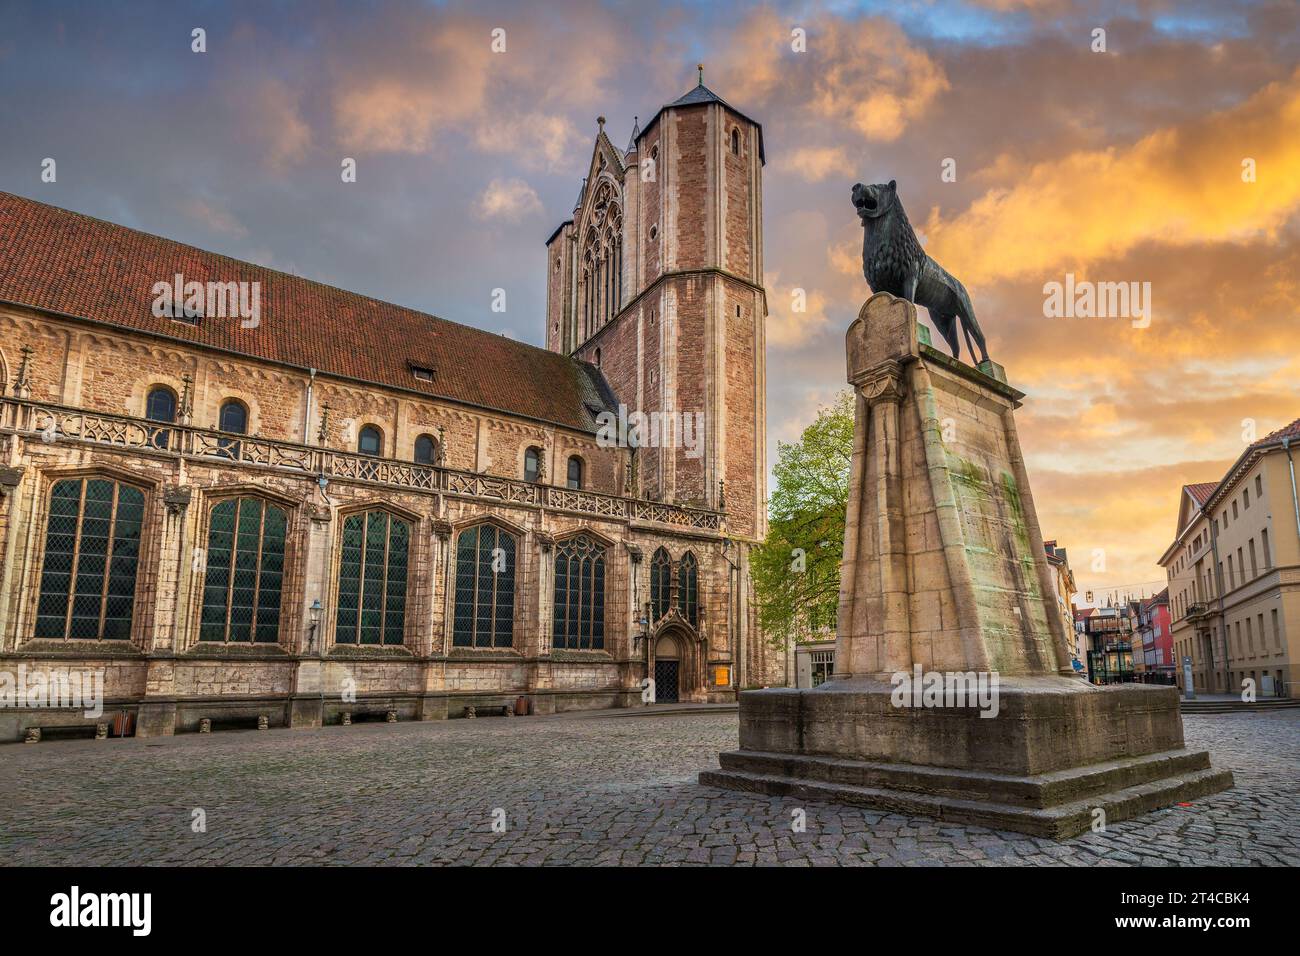
[[[1056,838],[1098,808],[1113,822],[1230,787],[1183,748],[1176,688],[1072,676],[1013,418],[1024,395],[916,329],[887,293],[849,328],[835,680],[741,693],[741,749],[701,782]]]

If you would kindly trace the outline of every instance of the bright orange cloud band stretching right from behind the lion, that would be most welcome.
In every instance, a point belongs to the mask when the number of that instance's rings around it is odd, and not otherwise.
[[[1244,103],[1128,147],[1037,163],[950,220],[930,252],[963,281],[1056,277],[1139,243],[1271,235],[1300,208],[1300,70]],[[1256,182],[1243,182],[1254,160]],[[1139,276],[1117,278],[1135,280]]]

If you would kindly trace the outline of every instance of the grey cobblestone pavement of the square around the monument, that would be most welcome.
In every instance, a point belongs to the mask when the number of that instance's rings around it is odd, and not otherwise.
[[[734,714],[14,744],[0,861],[1300,865],[1300,710],[1184,723],[1236,787],[1067,843],[819,803],[792,832],[797,803],[696,782],[734,748]]]

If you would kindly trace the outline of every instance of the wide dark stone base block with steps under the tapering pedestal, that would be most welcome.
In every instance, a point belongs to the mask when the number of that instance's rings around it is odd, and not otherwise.
[[[699,782],[1054,839],[1088,830],[1097,808],[1113,823],[1232,786],[1183,747],[1174,687],[1006,679],[996,705],[898,706],[866,679],[746,691],[741,749]]]

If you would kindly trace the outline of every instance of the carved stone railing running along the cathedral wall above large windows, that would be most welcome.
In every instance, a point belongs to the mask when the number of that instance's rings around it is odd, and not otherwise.
[[[209,462],[217,459],[332,480],[532,505],[597,518],[654,522],[693,531],[723,529],[723,515],[719,511],[4,397],[0,398],[0,440],[6,444],[9,436],[22,436],[27,441],[109,445],[162,457]]]

